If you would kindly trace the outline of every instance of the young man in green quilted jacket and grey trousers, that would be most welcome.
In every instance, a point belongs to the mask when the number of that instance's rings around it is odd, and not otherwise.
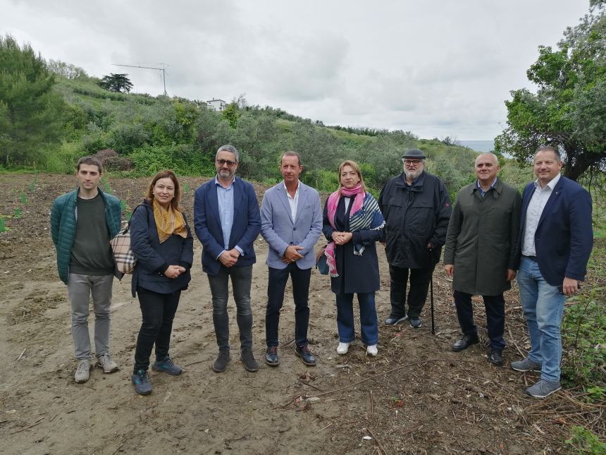
[[[90,370],[89,301],[94,307],[94,350],[105,373],[118,370],[109,354],[111,287],[115,263],[109,241],[120,230],[122,207],[115,196],[101,191],[103,166],[82,157],[76,166],[78,188],[56,198],[51,211],[51,236],[57,250],[57,270],[68,285],[72,337],[78,360],[75,382],[87,382]]]

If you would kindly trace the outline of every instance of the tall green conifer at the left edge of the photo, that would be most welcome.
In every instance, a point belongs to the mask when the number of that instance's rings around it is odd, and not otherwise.
[[[53,90],[54,75],[30,44],[19,47],[11,35],[0,37],[0,61],[1,162],[39,161],[63,133],[65,102]]]

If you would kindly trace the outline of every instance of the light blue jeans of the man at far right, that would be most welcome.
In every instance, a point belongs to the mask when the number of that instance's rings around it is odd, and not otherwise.
[[[520,301],[528,324],[531,351],[528,358],[534,363],[543,362],[540,378],[559,381],[559,363],[562,361],[562,324],[566,296],[540,274],[538,263],[522,256],[518,272]]]

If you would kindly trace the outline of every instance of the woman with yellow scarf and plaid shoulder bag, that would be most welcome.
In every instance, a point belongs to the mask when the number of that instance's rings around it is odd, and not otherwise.
[[[140,395],[152,393],[147,369],[154,344],[152,370],[169,375],[182,371],[168,356],[173,319],[181,291],[190,282],[194,260],[194,241],[179,208],[180,196],[177,176],[173,171],[160,171],[149,184],[147,198],[130,218],[130,247],[137,258],[132,296],[139,297],[142,315],[131,380]]]

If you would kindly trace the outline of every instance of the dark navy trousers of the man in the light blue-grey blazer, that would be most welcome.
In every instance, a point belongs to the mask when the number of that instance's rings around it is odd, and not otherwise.
[[[265,337],[267,346],[278,346],[278,324],[280,308],[284,303],[284,290],[288,276],[292,280],[292,297],[295,300],[295,343],[307,346],[307,326],[309,325],[309,280],[311,269],[299,269],[296,262],[291,262],[284,269],[269,267],[267,286],[267,308],[265,311]]]

